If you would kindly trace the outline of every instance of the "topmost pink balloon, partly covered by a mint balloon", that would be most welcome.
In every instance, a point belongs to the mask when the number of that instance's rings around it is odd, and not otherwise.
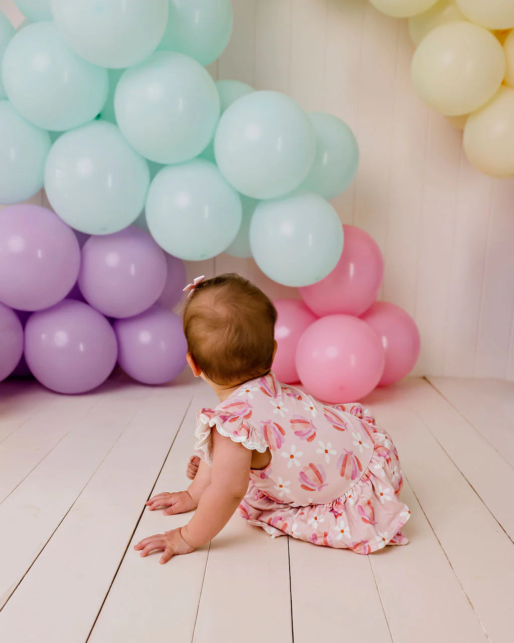
[[[375,301],[384,279],[384,258],[368,233],[342,226],[344,248],[330,275],[299,289],[301,298],[320,317],[335,313],[362,315]]]

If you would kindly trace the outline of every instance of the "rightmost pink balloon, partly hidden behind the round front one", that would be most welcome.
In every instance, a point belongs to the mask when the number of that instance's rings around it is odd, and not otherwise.
[[[397,382],[411,372],[420,356],[420,331],[412,317],[394,303],[375,302],[362,315],[380,337],[385,351],[384,373],[378,386]]]

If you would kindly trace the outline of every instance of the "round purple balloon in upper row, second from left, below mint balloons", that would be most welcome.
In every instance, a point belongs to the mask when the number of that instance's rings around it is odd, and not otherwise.
[[[82,248],[78,285],[85,300],[104,315],[132,317],[146,311],[163,292],[164,282],[164,252],[139,228],[90,237]]]

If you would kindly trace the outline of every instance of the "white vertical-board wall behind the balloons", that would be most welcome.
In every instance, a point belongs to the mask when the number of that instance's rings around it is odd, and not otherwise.
[[[461,132],[414,95],[406,21],[367,0],[232,1],[234,32],[213,77],[288,93],[357,135],[359,174],[333,205],[382,248],[381,297],[420,328],[416,373],[514,379],[514,179],[470,167]],[[12,0],[2,5],[19,20]],[[188,270],[235,270],[270,296],[297,296],[252,260],[220,255]]]

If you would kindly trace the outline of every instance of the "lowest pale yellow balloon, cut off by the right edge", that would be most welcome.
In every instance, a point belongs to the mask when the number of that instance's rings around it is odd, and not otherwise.
[[[488,104],[471,114],[464,149],[477,170],[504,178],[514,174],[514,89],[502,86]]]

